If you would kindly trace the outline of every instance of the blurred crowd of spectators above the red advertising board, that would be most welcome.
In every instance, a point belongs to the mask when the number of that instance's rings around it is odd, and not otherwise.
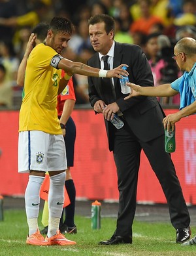
[[[93,48],[88,19],[99,13],[116,21],[115,40],[134,43],[146,54],[155,86],[171,83],[181,74],[172,59],[173,46],[182,37],[196,39],[196,0],[0,0],[0,107],[20,108],[22,88],[16,83],[18,66],[32,28],[66,16],[74,35],[63,56],[86,63]],[[76,105],[88,106],[88,81],[74,75]],[[179,97],[161,98],[161,104],[179,104]]]

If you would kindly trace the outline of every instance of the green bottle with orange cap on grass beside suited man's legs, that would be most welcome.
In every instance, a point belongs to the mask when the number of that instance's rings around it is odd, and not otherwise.
[[[101,228],[101,203],[97,200],[91,203],[91,228]]]

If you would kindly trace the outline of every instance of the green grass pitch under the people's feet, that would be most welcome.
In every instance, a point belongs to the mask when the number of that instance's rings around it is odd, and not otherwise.
[[[116,227],[116,219],[101,219],[101,230],[91,229],[91,220],[76,216],[78,234],[67,234],[67,238],[76,241],[76,245],[67,247],[39,247],[25,244],[27,223],[24,210],[6,210],[4,221],[0,221],[0,255],[1,256],[164,256],[196,255],[196,246],[175,244],[175,230],[171,224],[142,223],[133,224],[133,244],[98,245],[98,242],[110,238]],[[39,220],[40,228],[43,228]],[[196,227],[192,226],[192,233]]]

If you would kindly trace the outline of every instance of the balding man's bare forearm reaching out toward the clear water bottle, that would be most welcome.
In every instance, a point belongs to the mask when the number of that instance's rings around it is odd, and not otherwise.
[[[155,87],[144,87],[140,85],[135,85],[135,83],[127,83],[127,86],[131,87],[131,93],[129,96],[125,97],[125,100],[133,96],[174,96],[178,94],[178,91],[172,89],[170,83],[165,83],[164,85],[159,85]]]

